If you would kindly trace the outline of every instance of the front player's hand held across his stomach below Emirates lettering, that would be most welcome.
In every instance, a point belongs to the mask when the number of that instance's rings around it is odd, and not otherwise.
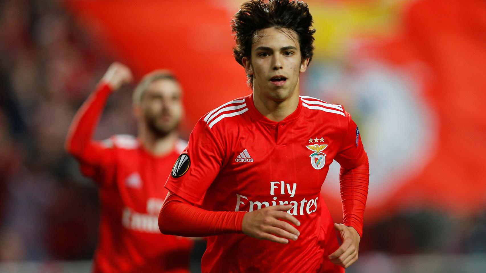
[[[300,222],[287,213],[292,205],[277,205],[263,209],[253,210],[243,216],[242,231],[244,234],[279,243],[288,243],[289,240],[297,240],[300,232],[286,220],[296,226]]]

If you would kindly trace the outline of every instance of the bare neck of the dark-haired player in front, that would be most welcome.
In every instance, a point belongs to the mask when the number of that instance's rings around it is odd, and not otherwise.
[[[263,92],[253,90],[253,103],[255,108],[266,118],[279,122],[293,113],[299,103],[299,91],[295,88],[294,92],[283,101],[274,101],[265,96]]]

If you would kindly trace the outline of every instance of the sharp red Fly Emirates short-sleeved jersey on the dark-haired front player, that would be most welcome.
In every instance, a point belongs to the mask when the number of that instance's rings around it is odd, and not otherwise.
[[[252,95],[241,97],[201,118],[183,153],[165,185],[171,192],[212,211],[291,204],[288,213],[301,223],[298,240],[288,244],[244,234],[209,237],[203,272],[324,271],[332,238],[326,236],[336,235],[322,226],[332,222],[321,219],[322,183],[333,160],[347,169],[366,160],[341,105],[300,96],[295,112],[274,122],[258,112]]]

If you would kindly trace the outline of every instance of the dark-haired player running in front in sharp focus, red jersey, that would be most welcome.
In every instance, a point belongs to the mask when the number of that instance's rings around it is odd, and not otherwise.
[[[313,52],[308,6],[248,1],[232,28],[253,92],[197,122],[165,185],[159,228],[211,236],[203,272],[343,272],[358,258],[368,159],[342,105],[299,96]],[[333,225],[343,242],[330,250],[337,239],[319,193],[333,160],[344,224]]]

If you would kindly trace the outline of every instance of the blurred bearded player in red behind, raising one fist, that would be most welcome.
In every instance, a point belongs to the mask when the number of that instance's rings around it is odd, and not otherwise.
[[[92,139],[106,100],[132,80],[123,64],[111,64],[76,114],[66,140],[82,173],[99,186],[101,221],[93,271],[188,273],[192,242],[160,234],[157,215],[168,191],[166,177],[186,143],[177,136],[182,91],[167,71],[146,75],[133,93],[138,138]]]

